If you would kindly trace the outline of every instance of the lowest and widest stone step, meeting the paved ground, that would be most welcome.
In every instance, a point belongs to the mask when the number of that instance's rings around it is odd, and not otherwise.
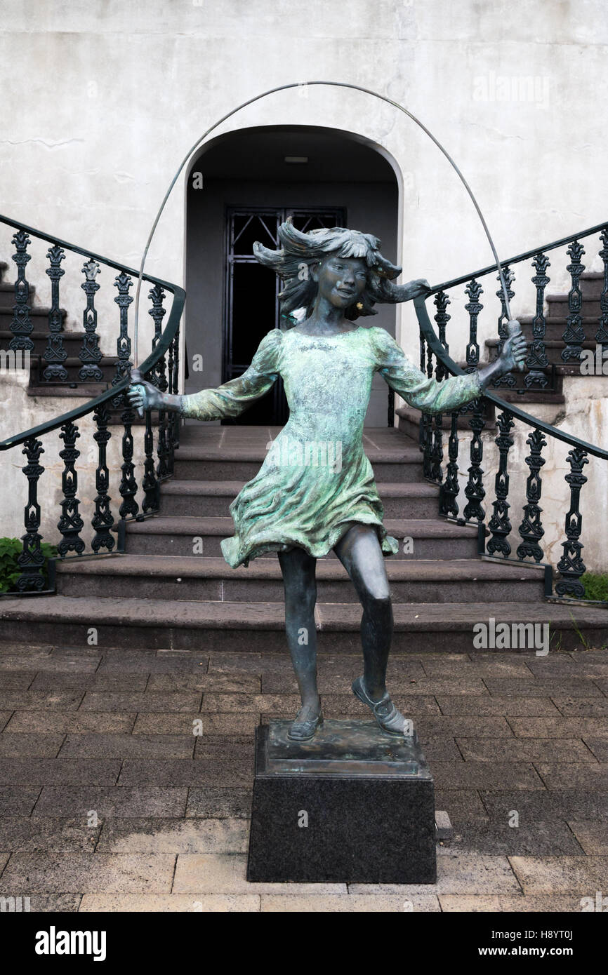
[[[608,614],[591,606],[577,605],[573,612],[551,603],[409,603],[395,605],[394,618],[393,653],[475,653],[473,627],[489,625],[490,618],[496,624],[548,624],[553,649],[608,642]],[[319,604],[316,619],[321,652],[360,652],[358,605]],[[97,645],[104,648],[286,652],[280,603],[169,603],[99,596],[0,599],[0,640],[82,646],[91,627],[97,630]]]

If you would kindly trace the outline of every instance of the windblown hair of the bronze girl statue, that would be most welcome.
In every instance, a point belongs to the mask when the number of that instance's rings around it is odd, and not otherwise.
[[[369,268],[367,285],[358,296],[357,304],[345,310],[345,318],[353,321],[359,315],[377,315],[374,304],[390,300],[386,294],[389,280],[401,273],[401,268],[391,264],[380,253],[381,242],[373,234],[346,227],[323,227],[304,233],[294,227],[291,217],[279,227],[278,251],[270,251],[258,241],[254,244],[254,254],[261,264],[272,268],[285,282],[279,300],[283,313],[288,314],[297,308],[305,309],[307,318],[317,294],[317,284],[310,274],[310,267],[318,264],[324,257],[335,254],[338,257],[363,257]],[[292,322],[296,324],[295,320]]]

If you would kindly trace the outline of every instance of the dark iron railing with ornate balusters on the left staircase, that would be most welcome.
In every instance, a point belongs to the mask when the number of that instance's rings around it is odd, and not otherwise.
[[[144,413],[144,433],[142,451],[142,472],[139,476],[137,462],[134,455],[134,432],[136,412],[130,408],[125,397],[125,390],[130,382],[132,369],[131,339],[129,337],[129,306],[133,297],[129,290],[138,272],[116,261],[93,254],[91,251],[68,244],[47,234],[34,230],[16,220],[0,216],[0,223],[15,228],[13,237],[16,254],[15,262],[18,267],[15,284],[15,309],[13,319],[13,338],[10,342],[14,352],[28,351],[33,348],[30,338],[32,325],[29,307],[29,286],[25,276],[25,267],[29,260],[27,251],[31,239],[44,241],[49,245],[48,257],[50,261],[49,275],[52,280],[52,309],[49,319],[50,335],[44,358],[47,368],[51,370],[50,377],[58,377],[62,381],[65,360],[65,350],[62,340],[68,332],[62,332],[60,313],[60,279],[63,274],[61,260],[65,252],[80,254],[85,258],[82,272],[85,281],[82,288],[86,294],[86,308],[84,310],[85,335],[80,353],[82,370],[85,378],[98,379],[96,367],[99,364],[99,342],[96,333],[97,312],[96,295],[100,285],[96,281],[100,267],[105,266],[116,271],[114,287],[118,293],[114,301],[118,305],[118,335],[116,370],[107,388],[99,396],[75,409],[63,413],[61,416],[41,423],[36,427],[25,430],[15,437],[0,443],[0,450],[9,450],[22,446],[27,463],[22,468],[27,478],[27,502],[24,510],[25,533],[21,536],[23,549],[18,559],[20,577],[16,583],[18,593],[42,593],[53,591],[53,565],[49,572],[48,582],[45,581],[45,557],[41,550],[42,535],[41,509],[38,501],[38,485],[44,467],[40,464],[40,456],[44,453],[44,438],[54,431],[59,431],[63,442],[60,457],[63,462],[61,477],[60,517],[57,523],[58,552],[61,559],[81,557],[86,554],[111,554],[124,549],[124,527],[126,521],[142,519],[146,515],[158,511],[160,483],[171,477],[174,470],[174,453],[180,444],[180,418],[178,413],[169,414],[160,410],[158,422],[152,423],[150,410]],[[148,314],[154,323],[154,334],[151,340],[151,351],[140,367],[142,376],[152,382],[162,392],[179,392],[180,382],[180,321],[185,299],[185,292],[177,285],[170,284],[160,278],[144,274],[143,280],[151,285],[148,293],[150,308]],[[166,292],[173,294],[173,302],[169,318],[163,331],[163,318],[166,314],[164,299]],[[106,333],[107,329],[105,330]],[[95,513],[91,521],[92,539],[90,545],[82,537],[85,523],[80,515],[80,501],[78,498],[78,471],[76,462],[81,450],[76,447],[76,441],[85,436],[78,428],[77,421],[92,415],[95,424],[93,440],[97,446],[97,469],[95,475],[96,497]],[[122,427],[120,484],[119,493],[122,498],[118,511],[112,509],[109,495],[110,472],[107,461],[107,445],[112,437],[109,426],[115,422]],[[156,443],[155,443],[156,441]],[[93,447],[93,445],[86,445]]]

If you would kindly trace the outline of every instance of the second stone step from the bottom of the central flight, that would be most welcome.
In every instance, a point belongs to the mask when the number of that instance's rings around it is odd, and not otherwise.
[[[421,561],[386,559],[394,603],[456,603],[459,600],[531,603],[542,600],[544,570],[479,559]],[[278,559],[255,559],[230,568],[221,558],[120,555],[58,562],[61,596],[124,597],[150,600],[282,603]],[[320,559],[316,570],[319,603],[356,603],[357,596],[337,559]]]

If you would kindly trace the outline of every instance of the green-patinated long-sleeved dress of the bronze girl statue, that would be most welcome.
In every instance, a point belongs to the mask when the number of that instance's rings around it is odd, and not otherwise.
[[[385,555],[383,505],[363,450],[363,421],[374,373],[412,407],[450,412],[481,394],[477,372],[444,382],[427,378],[385,329],[356,327],[334,335],[274,329],[250,368],[219,389],[182,397],[184,416],[238,416],[282,376],[290,417],[259,474],[230,505],[234,536],[222,542],[228,565],[293,546],[320,558],[353,523],[378,530]]]

